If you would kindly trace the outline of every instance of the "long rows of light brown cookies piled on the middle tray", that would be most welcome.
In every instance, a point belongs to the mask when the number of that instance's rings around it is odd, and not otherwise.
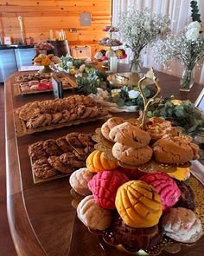
[[[16,109],[16,115],[25,122],[26,128],[63,124],[106,114],[99,103],[85,95],[73,95],[43,102],[29,102]]]

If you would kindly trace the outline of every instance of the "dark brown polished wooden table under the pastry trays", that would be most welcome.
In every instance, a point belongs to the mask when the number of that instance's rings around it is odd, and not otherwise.
[[[103,121],[94,121],[69,128],[36,133],[16,138],[13,109],[27,102],[54,99],[52,94],[13,95],[16,73],[5,82],[6,117],[6,166],[7,166],[7,209],[10,231],[16,252],[21,256],[65,256],[65,255],[124,255],[111,246],[105,251],[99,246],[97,236],[75,219],[70,194],[69,178],[62,178],[35,185],[33,182],[28,146],[35,141],[58,138],[70,132],[93,132]],[[179,91],[179,79],[156,72],[162,85],[163,97],[175,95],[180,99],[196,100],[203,86],[194,84],[190,93]],[[66,93],[68,95],[68,93]],[[119,114],[124,118],[134,114]],[[74,222],[75,220],[75,222]],[[74,228],[73,228],[74,223]],[[71,242],[73,232],[73,240]],[[203,255],[204,237],[194,247],[182,248],[179,255]],[[162,255],[172,255],[164,253]]]

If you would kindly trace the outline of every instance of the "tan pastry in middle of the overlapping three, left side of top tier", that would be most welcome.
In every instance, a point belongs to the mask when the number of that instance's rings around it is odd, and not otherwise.
[[[137,128],[137,126],[129,122],[124,122],[112,128],[109,138],[114,142],[131,148],[143,148],[150,142],[150,134],[148,132]]]

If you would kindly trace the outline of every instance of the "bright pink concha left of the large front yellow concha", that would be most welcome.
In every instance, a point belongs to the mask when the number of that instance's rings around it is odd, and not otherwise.
[[[96,174],[88,187],[96,203],[106,209],[115,209],[115,199],[118,187],[129,181],[125,174],[118,171],[104,171]]]

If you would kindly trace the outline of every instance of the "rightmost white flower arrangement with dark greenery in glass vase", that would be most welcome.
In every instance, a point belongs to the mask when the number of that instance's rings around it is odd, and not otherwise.
[[[181,79],[181,89],[188,91],[193,86],[193,69],[195,64],[204,61],[204,36],[201,32],[201,19],[197,14],[197,3],[191,1],[193,22],[181,30],[178,35],[168,35],[164,41],[158,43],[156,62],[169,67],[172,60],[182,62],[184,72]]]

